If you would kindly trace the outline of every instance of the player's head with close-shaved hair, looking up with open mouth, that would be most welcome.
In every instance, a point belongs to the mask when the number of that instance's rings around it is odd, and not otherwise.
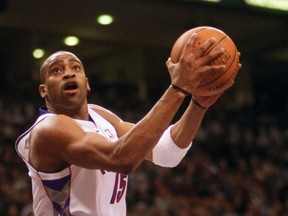
[[[50,56],[42,76],[44,83],[39,91],[52,112],[70,112],[87,103],[88,80],[82,63],[72,53],[59,52]]]

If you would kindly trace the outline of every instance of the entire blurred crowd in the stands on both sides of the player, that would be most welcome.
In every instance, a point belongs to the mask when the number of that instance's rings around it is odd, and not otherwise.
[[[132,122],[153,103],[135,100],[113,91],[90,95],[90,102]],[[38,115],[35,104],[27,98],[0,98],[3,216],[33,216],[30,179],[14,143]],[[130,175],[128,216],[288,216],[285,114],[259,111],[252,93],[224,94],[207,112],[177,167],[144,162]]]

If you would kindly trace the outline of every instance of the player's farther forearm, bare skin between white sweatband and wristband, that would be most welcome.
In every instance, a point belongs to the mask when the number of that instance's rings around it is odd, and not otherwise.
[[[191,100],[180,120],[171,128],[171,137],[180,148],[186,148],[195,138],[205,112],[206,109]]]

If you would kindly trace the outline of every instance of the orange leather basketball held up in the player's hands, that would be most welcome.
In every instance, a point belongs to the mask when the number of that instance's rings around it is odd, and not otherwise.
[[[207,39],[214,37],[216,42],[208,50],[206,55],[212,50],[223,47],[225,52],[212,61],[211,65],[225,64],[226,69],[222,73],[211,72],[206,74],[201,80],[200,85],[192,92],[192,94],[197,96],[211,96],[223,92],[229,87],[230,81],[235,79],[239,62],[239,53],[235,43],[223,31],[214,27],[200,26],[184,32],[172,47],[170,55],[171,59],[174,63],[179,61],[184,45],[195,32],[197,32],[198,38],[195,41],[192,53],[194,53]]]

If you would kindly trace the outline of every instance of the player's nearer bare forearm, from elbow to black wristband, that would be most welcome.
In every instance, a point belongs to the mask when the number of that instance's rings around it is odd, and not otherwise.
[[[151,111],[128,133],[119,138],[113,157],[129,169],[125,172],[135,169],[151,153],[184,98],[182,93],[168,88]]]

